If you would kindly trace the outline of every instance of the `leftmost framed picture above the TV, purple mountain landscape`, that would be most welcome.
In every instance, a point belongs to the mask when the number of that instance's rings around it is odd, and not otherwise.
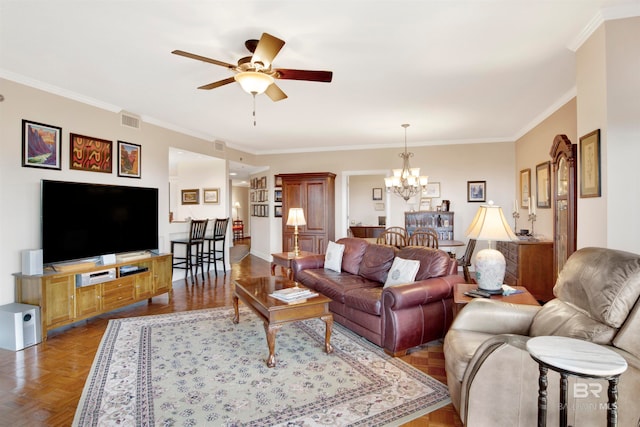
[[[22,120],[22,166],[60,170],[62,128]]]

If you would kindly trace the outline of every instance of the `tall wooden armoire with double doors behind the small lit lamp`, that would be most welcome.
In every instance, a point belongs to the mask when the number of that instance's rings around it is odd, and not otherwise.
[[[302,208],[307,224],[298,227],[300,250],[322,254],[335,239],[335,178],[331,172],[280,174],[282,179],[282,250],[293,251],[290,208]]]

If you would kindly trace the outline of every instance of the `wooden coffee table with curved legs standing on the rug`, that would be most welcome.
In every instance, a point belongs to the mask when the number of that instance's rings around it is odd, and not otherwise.
[[[327,353],[333,351],[331,346],[333,315],[329,311],[331,299],[320,294],[317,297],[300,302],[287,303],[269,296],[275,290],[296,286],[296,282],[285,277],[250,277],[236,279],[233,284],[233,309],[235,312],[233,323],[240,321],[240,313],[238,312],[239,299],[262,319],[269,346],[269,357],[267,358],[267,366],[269,368],[276,366],[276,332],[283,324],[288,322],[319,317],[326,324],[324,349]]]

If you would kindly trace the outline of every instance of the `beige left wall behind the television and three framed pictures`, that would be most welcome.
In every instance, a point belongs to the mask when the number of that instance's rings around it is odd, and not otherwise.
[[[185,232],[184,224],[169,224],[169,147],[219,157],[214,144],[144,122],[139,130],[123,127],[119,113],[108,106],[94,107],[5,79],[0,79],[0,93],[5,98],[0,103],[0,305],[14,301],[12,273],[21,270],[21,251],[41,247],[42,179],[158,188],[160,250],[168,252],[171,236]],[[62,170],[22,167],[22,119],[62,127]],[[111,140],[116,153],[118,140],[141,145],[142,178],[118,177],[115,165],[111,174],[69,170],[70,132]],[[206,182],[222,192],[212,215],[229,211],[226,182]],[[61,209],[81,214],[82,201]]]

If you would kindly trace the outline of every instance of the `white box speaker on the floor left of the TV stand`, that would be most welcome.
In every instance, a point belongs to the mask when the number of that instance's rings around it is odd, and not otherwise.
[[[40,342],[40,307],[19,303],[0,306],[0,348],[17,351]]]

